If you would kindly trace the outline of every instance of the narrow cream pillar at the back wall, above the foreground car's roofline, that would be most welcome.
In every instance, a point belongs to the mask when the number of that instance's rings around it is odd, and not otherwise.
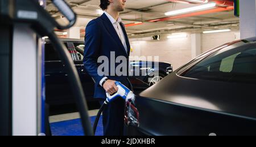
[[[201,33],[191,34],[192,59],[201,54]]]

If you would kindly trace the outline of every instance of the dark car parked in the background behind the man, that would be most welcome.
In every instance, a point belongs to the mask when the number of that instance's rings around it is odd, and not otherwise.
[[[71,53],[77,71],[79,72],[82,87],[87,98],[87,101],[96,101],[93,98],[94,94],[94,81],[85,72],[84,64],[82,63],[84,54],[84,41],[75,39],[61,39],[61,41],[68,48]],[[132,64],[138,64],[139,67],[144,67],[146,62],[134,62]],[[141,68],[139,68],[141,69]],[[150,81],[148,79],[152,77],[151,71],[159,71],[159,79],[167,76],[172,72],[172,66],[169,63],[159,63],[158,68],[150,68],[146,75],[131,76],[130,81],[134,87],[135,93],[140,93],[144,89],[150,87]],[[63,105],[68,103],[74,103],[71,87],[67,78],[67,70],[65,65],[59,59],[55,49],[51,43],[46,40],[45,44],[45,77],[46,77],[46,102],[50,105]]]

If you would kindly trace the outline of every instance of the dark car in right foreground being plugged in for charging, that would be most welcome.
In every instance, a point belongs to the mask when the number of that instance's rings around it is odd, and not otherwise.
[[[216,47],[127,105],[127,135],[256,135],[255,89],[256,37]]]

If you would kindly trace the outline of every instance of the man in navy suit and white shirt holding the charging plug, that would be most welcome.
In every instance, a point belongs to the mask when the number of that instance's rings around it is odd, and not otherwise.
[[[126,66],[129,63],[130,44],[119,12],[125,10],[126,0],[101,0],[100,7],[104,14],[92,21],[86,27],[84,66],[86,72],[93,77],[95,85],[94,98],[98,98],[102,104],[106,100],[106,92],[114,94],[118,88],[115,81],[119,81],[126,87],[131,88],[128,79],[128,69],[126,75],[117,76],[108,73],[107,75],[98,74],[98,58],[106,57],[109,59],[107,71],[113,71],[118,63],[110,62],[113,53],[115,59],[123,57],[126,59]],[[114,60],[115,60],[114,59]],[[115,70],[115,69],[114,69]],[[125,100],[118,98],[108,105],[103,111],[103,124],[105,136],[122,136],[124,124]]]

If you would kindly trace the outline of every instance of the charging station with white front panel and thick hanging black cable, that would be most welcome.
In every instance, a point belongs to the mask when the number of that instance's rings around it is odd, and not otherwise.
[[[53,33],[55,27],[72,27],[76,15],[64,1],[52,2],[67,16],[67,26],[57,24],[44,10],[45,0],[0,1],[0,135],[37,136],[46,133],[43,36],[55,41],[55,47],[69,69],[69,81],[85,135],[93,135],[77,71],[72,66],[67,48]]]

